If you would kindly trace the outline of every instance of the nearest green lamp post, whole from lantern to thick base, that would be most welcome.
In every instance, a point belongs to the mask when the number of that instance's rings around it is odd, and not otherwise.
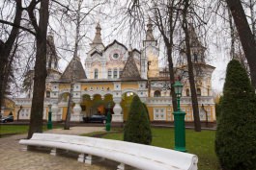
[[[177,111],[173,112],[174,115],[174,134],[175,134],[175,147],[176,151],[185,152],[185,111],[181,110],[181,96],[183,92],[183,84],[176,81],[174,86],[175,94],[177,95]]]

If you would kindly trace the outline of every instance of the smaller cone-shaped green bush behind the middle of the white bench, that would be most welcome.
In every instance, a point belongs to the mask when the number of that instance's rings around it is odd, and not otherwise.
[[[152,132],[147,110],[138,96],[134,96],[125,125],[124,140],[134,143],[151,144]]]

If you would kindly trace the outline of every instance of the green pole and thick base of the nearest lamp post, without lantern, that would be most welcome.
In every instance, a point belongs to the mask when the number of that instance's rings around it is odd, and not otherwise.
[[[175,147],[176,151],[185,152],[185,111],[181,110],[181,98],[177,97],[178,110],[174,111]]]

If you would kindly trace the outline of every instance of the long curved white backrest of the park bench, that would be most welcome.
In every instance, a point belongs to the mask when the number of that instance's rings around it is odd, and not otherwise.
[[[191,169],[198,158],[195,155],[164,149],[155,146],[137,143],[85,137],[68,134],[33,134],[31,140],[54,141],[71,144],[81,144],[96,148],[104,148],[112,151],[128,153],[141,158],[149,158],[166,164],[172,164],[181,169]]]

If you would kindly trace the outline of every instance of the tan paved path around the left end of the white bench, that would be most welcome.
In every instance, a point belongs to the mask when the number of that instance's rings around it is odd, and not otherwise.
[[[87,134],[104,131],[102,127],[72,127],[71,130],[51,130],[45,133],[55,134]],[[50,156],[45,151],[21,151],[19,139],[26,134],[0,138],[0,169],[1,170],[112,170],[117,163],[103,161],[94,165],[78,162],[76,155]]]

